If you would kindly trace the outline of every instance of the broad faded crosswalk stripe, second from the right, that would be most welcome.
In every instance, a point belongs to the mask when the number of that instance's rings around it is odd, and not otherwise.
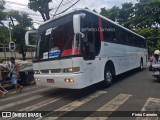
[[[104,106],[99,108],[97,111],[115,111],[118,109],[123,103],[125,103],[129,97],[132,95],[130,94],[119,94],[114,99],[106,103]],[[93,117],[94,115],[97,116],[96,112],[91,114],[89,117],[86,117],[84,120],[106,120],[108,117]]]

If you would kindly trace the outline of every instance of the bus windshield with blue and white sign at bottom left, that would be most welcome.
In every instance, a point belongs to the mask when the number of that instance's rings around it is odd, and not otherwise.
[[[74,32],[73,21],[49,28],[41,33],[39,43],[39,58],[50,59],[80,54],[73,54]]]

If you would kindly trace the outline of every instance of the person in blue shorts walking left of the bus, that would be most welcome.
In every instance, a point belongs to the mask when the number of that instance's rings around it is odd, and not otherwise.
[[[19,65],[16,64],[15,58],[11,57],[11,68],[10,68],[10,76],[11,76],[11,82],[13,85],[15,85],[16,91],[13,94],[16,94],[19,90],[19,92],[22,91],[23,86],[18,84],[18,78],[19,78]]]

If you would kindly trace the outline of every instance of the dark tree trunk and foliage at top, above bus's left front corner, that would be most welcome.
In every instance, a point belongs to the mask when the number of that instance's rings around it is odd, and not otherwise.
[[[51,9],[49,9],[49,3],[52,2],[52,0],[29,0],[28,8],[34,10],[35,12],[39,12],[43,18],[44,21],[49,20],[49,12]]]

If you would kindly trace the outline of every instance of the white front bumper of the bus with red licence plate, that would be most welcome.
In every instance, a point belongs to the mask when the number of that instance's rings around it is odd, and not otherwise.
[[[89,80],[84,73],[34,75],[37,86],[54,88],[81,89],[88,86]],[[88,81],[88,82],[87,82]]]

